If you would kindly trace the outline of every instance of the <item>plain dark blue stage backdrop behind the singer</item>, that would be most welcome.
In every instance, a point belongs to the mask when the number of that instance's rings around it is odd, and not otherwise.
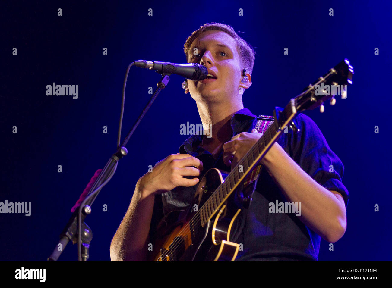
[[[0,201],[31,202],[31,216],[0,215],[0,260],[46,260],[71,207],[116,151],[128,64],[138,59],[186,62],[183,44],[206,22],[231,25],[254,47],[253,85],[243,96],[254,114],[272,115],[275,106],[284,107],[328,69],[350,60],[355,74],[347,99],[325,105],[323,114],[305,112],[343,162],[343,184],[350,192],[347,231],[334,251],[321,240],[319,260],[392,259],[389,1],[10,3],[0,7]],[[334,16],[328,15],[330,8]],[[284,47],[289,55],[283,55]],[[155,72],[131,69],[122,139],[151,97],[149,87],[155,90],[159,80]],[[110,260],[110,242],[136,181],[149,165],[178,152],[188,137],[179,134],[181,123],[201,122],[182,81],[171,76],[128,143],[128,156],[94,202],[86,220],[94,235],[89,260]],[[79,98],[46,96],[52,82],[79,85]],[[379,212],[374,212],[376,204]],[[60,260],[76,259],[77,247],[69,244]]]

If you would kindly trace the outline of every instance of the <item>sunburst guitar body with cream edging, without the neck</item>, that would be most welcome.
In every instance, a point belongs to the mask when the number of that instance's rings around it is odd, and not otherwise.
[[[197,211],[224,182],[227,172],[211,168],[201,179],[189,209],[173,211],[158,224],[158,238],[153,247],[160,247],[154,261],[234,261],[239,245],[230,242],[230,230],[241,211],[233,193],[204,226]]]

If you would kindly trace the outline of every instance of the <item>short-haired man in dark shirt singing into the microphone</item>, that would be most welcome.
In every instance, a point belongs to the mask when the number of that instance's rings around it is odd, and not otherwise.
[[[184,52],[188,63],[204,65],[209,72],[205,80],[187,80],[184,88],[212,137],[192,135],[179,153],[138,180],[111,243],[112,261],[147,260],[158,221],[191,205],[205,172],[212,167],[229,171],[262,135],[254,129],[256,115],[242,103],[243,92],[252,85],[254,51],[249,44],[229,25],[211,23],[188,37]],[[334,243],[346,231],[349,194],[341,181],[343,164],[314,121],[299,114],[294,123],[299,132],[282,133],[260,162],[253,201],[241,210],[233,236],[243,248],[236,261],[317,261],[320,237]],[[276,201],[300,204],[301,215],[271,213],[270,203]]]

